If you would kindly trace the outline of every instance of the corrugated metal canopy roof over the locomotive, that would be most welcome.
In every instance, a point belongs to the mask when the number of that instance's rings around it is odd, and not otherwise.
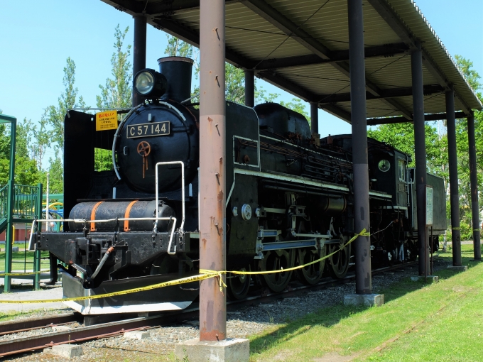
[[[152,26],[199,47],[200,0],[102,1],[131,15],[144,13]],[[225,4],[228,62],[350,122],[347,0]],[[412,119],[411,50],[417,42],[423,49],[425,114],[438,114],[428,119],[444,118],[444,92],[450,87],[457,110],[482,109],[412,0],[363,0],[363,5],[368,118]]]

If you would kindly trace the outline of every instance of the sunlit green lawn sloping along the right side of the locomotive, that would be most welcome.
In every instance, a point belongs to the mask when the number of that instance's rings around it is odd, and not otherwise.
[[[483,361],[483,263],[472,256],[462,246],[468,272],[440,270],[440,283],[391,286],[382,307],[335,305],[252,336],[251,361]]]

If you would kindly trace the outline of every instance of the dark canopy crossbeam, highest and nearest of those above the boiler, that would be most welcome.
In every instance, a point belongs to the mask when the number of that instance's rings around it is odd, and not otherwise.
[[[404,43],[388,44],[381,46],[371,46],[364,50],[365,57],[391,57],[394,55],[399,55],[406,53],[408,47]],[[254,62],[251,69],[254,70],[267,70],[267,69],[280,69],[285,67],[300,67],[303,65],[318,65],[327,64],[333,62],[349,60],[349,50],[337,50],[332,52],[332,57],[330,59],[322,59],[318,55],[297,55],[295,57],[281,57],[274,59],[267,59],[261,62]]]

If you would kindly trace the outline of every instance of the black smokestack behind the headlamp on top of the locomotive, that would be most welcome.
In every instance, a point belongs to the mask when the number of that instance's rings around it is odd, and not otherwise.
[[[193,60],[189,57],[162,57],[158,64],[159,72],[168,79],[168,90],[161,100],[182,102],[190,98]]]

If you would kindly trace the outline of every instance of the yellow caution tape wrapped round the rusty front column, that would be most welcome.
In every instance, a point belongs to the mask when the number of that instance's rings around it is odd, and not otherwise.
[[[340,250],[345,248],[349,243],[352,243],[358,236],[370,236],[368,232],[366,232],[366,229],[363,229],[359,234],[354,235],[347,243],[344,244],[344,246],[340,247]],[[116,297],[117,295],[125,295],[125,294],[131,294],[131,293],[136,293],[136,292],[144,292],[146,290],[153,290],[153,289],[158,289],[162,287],[170,287],[173,285],[180,285],[180,284],[185,284],[185,283],[192,283],[192,282],[197,282],[205,279],[210,279],[210,278],[219,278],[219,289],[220,291],[223,291],[224,287],[227,287],[227,285],[223,282],[222,280],[222,275],[227,274],[227,273],[232,273],[232,274],[269,274],[269,273],[283,273],[295,269],[300,269],[300,268],[305,268],[308,265],[312,265],[315,263],[320,262],[321,260],[324,260],[325,258],[329,258],[330,256],[334,255],[335,253],[338,253],[340,250],[337,250],[333,253],[330,253],[327,256],[324,256],[323,258],[320,258],[318,260],[314,260],[310,263],[304,264],[304,265],[298,265],[294,268],[288,268],[288,269],[281,269],[281,270],[268,270],[264,272],[241,272],[238,270],[235,271],[227,271],[227,270],[207,270],[207,269],[200,269],[199,275],[192,275],[191,277],[187,278],[181,278],[181,279],[176,279],[176,280],[170,280],[168,282],[164,283],[158,283],[158,284],[153,284],[153,285],[147,285],[146,287],[137,287],[129,290],[120,290],[119,292],[112,292],[112,293],[105,293],[105,294],[99,294],[99,295],[90,295],[86,297],[72,297],[72,298],[58,298],[58,299],[50,299],[50,300],[0,300],[0,304],[5,303],[5,304],[28,304],[28,303],[53,303],[53,302],[74,302],[77,300],[93,300],[93,299],[101,299],[101,298],[107,298],[107,297]],[[39,273],[39,272],[36,272]]]

